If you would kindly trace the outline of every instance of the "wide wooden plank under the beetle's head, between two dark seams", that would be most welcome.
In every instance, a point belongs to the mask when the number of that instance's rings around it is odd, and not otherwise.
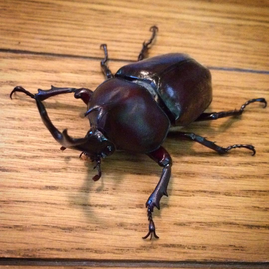
[[[269,248],[268,108],[251,104],[239,118],[193,123],[221,146],[254,144],[220,156],[169,137],[173,158],[169,197],[154,211],[158,240],[147,232],[145,202],[161,169],[146,155],[116,152],[91,180],[91,163],[59,150],[33,100],[9,93],[37,88],[89,87],[104,79],[98,61],[0,53],[0,256],[79,259],[266,261]],[[111,62],[115,72],[121,62]],[[268,75],[212,71],[210,109],[268,99]],[[52,121],[72,136],[88,130],[83,102],[73,95],[45,101]]]

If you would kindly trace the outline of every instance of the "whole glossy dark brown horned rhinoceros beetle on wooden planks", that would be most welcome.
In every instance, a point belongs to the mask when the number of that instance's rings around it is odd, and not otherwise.
[[[32,94],[21,86],[10,93],[23,92],[36,100],[43,123],[62,147],[71,148],[95,161],[101,177],[101,159],[110,156],[115,150],[130,153],[144,153],[162,167],[160,181],[146,202],[149,221],[148,233],[143,239],[155,232],[153,209],[160,210],[160,200],[168,196],[167,186],[171,175],[172,159],[161,145],[171,126],[186,126],[194,121],[215,120],[227,116],[241,115],[246,105],[262,102],[264,98],[256,98],[245,102],[239,110],[204,112],[212,100],[210,71],[190,56],[180,53],[169,53],[146,58],[158,28],[152,26],[151,38],[143,43],[138,61],[120,68],[115,75],[108,68],[107,45],[102,44],[104,59],[101,69],[106,80],[95,91],[86,88],[58,88],[51,86],[49,90],[38,89]],[[73,138],[67,130],[60,132],[51,122],[42,101],[49,97],[74,93],[87,105],[85,116],[89,118],[90,130],[83,138]],[[178,132],[183,140],[196,141],[220,154],[232,148],[247,148],[255,154],[252,145],[236,144],[228,147],[217,146],[214,142],[194,133]]]

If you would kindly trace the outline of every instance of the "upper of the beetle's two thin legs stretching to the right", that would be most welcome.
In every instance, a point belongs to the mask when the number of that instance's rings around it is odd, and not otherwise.
[[[220,119],[220,118],[224,118],[224,117],[228,117],[228,116],[241,115],[243,113],[245,107],[248,104],[253,103],[253,102],[257,102],[257,101],[264,103],[264,107],[267,106],[267,102],[264,98],[251,99],[251,100],[245,102],[245,104],[243,104],[239,110],[235,109],[235,110],[231,110],[231,111],[202,113],[195,121],[209,121],[209,120]]]

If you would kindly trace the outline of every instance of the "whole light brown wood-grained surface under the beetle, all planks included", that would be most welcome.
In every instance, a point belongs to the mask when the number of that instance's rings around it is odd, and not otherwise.
[[[268,112],[254,103],[240,117],[192,123],[183,130],[221,146],[253,144],[219,155],[170,135],[169,197],[154,211],[158,240],[147,232],[145,202],[161,169],[146,155],[116,152],[102,178],[79,152],[59,150],[21,85],[87,87],[103,80],[100,44],[112,72],[136,61],[150,26],[150,56],[190,54],[208,66],[208,111],[239,108],[268,94],[266,1],[1,1],[1,268],[268,268]],[[60,129],[82,137],[86,107],[73,95],[46,100]],[[58,266],[58,267],[57,267]],[[69,267],[66,267],[69,266]]]

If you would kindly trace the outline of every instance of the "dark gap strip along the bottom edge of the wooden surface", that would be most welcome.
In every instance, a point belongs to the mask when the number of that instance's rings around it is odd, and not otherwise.
[[[245,261],[146,261],[146,260],[83,260],[49,258],[1,258],[0,265],[9,266],[84,266],[84,267],[157,267],[157,268],[269,268],[269,262]]]

